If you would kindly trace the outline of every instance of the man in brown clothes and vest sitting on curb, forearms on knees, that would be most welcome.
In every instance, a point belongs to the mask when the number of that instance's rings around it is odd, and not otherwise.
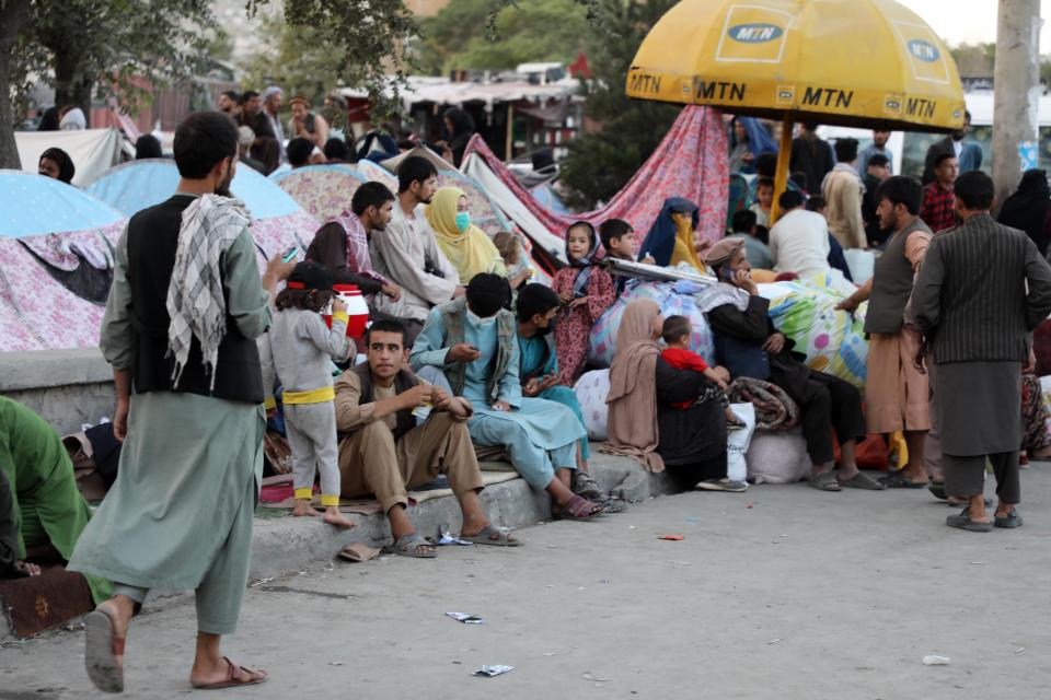
[[[435,548],[416,533],[406,512],[406,491],[443,472],[460,501],[462,539],[520,545],[494,527],[482,510],[478,492],[484,483],[466,424],[474,412],[471,402],[423,383],[404,366],[405,327],[397,320],[373,323],[365,342],[368,361],[336,382],[343,495],[374,493],[391,523],[393,551],[429,559]],[[430,415],[417,425],[423,408]]]

